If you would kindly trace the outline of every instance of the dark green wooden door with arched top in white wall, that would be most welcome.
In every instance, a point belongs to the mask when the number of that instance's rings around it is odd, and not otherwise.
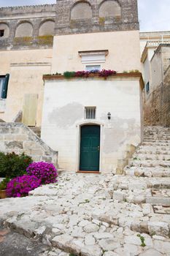
[[[80,170],[99,171],[100,127],[85,125],[81,127]]]

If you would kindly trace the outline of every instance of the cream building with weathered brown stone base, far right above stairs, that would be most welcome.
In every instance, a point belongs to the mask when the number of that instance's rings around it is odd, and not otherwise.
[[[170,126],[170,32],[141,33],[144,124]],[[145,47],[143,45],[145,43]]]

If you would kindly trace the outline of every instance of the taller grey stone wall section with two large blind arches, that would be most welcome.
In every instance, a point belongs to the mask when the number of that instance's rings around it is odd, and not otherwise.
[[[137,0],[57,1],[57,35],[131,30],[139,30]]]

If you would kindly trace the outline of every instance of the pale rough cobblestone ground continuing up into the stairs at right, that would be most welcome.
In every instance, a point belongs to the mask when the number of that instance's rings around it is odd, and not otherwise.
[[[0,200],[1,222],[50,246],[43,256],[169,256],[169,145],[170,129],[147,127],[124,176],[63,173],[29,197]],[[164,154],[150,159],[148,146]]]

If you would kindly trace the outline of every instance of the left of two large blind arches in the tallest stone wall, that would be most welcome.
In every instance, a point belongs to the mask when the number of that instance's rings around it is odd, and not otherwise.
[[[83,20],[90,18],[92,18],[92,10],[87,1],[79,1],[74,4],[71,11],[71,20]]]

